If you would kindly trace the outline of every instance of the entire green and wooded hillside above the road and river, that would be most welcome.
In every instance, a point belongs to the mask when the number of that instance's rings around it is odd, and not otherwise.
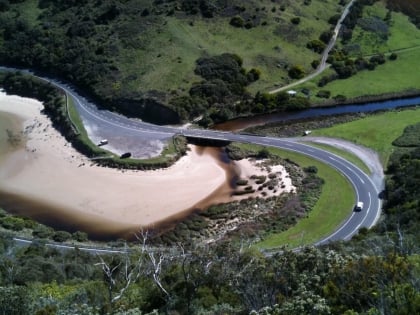
[[[267,94],[314,71],[347,3],[3,1],[0,63],[61,77],[125,115],[154,123],[202,117],[205,127],[366,95],[418,93],[411,69],[418,65],[419,5],[358,0],[328,58],[331,69],[298,86],[296,98]],[[391,75],[395,80],[383,80]],[[165,117],[145,114],[162,105]]]

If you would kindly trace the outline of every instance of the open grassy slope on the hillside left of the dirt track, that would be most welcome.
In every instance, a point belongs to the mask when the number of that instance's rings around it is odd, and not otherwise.
[[[249,87],[251,92],[284,84],[288,80],[284,66],[301,64],[311,71],[310,63],[319,55],[307,49],[306,43],[328,30],[327,20],[341,8],[333,0],[313,0],[310,5],[289,2],[284,11],[262,0],[257,7],[266,25],[251,29],[232,27],[230,18],[224,17],[165,17],[142,34],[141,49],[122,51],[119,68],[124,77],[132,78],[123,84],[133,90],[182,92],[199,81],[193,73],[198,58],[224,52],[236,53],[244,67],[262,71],[261,79]],[[290,20],[297,16],[300,23],[294,25]]]

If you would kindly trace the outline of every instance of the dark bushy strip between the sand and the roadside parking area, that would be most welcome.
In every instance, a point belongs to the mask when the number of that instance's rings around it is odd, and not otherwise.
[[[168,141],[158,157],[149,159],[123,158],[98,147],[89,139],[72,98],[53,85],[19,72],[3,74],[0,77],[0,85],[9,94],[32,97],[42,101],[45,112],[49,115],[54,127],[80,153],[93,159],[93,163],[114,168],[156,169],[170,166],[187,150],[186,139],[182,136],[174,136]]]

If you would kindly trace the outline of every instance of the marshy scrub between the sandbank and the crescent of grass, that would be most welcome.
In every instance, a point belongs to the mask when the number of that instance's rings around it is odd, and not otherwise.
[[[261,194],[258,198],[250,197],[227,204],[216,204],[208,209],[197,209],[188,218],[171,224],[168,231],[158,234],[152,239],[154,243],[163,242],[174,245],[182,242],[193,246],[201,242],[237,243],[244,239],[259,242],[289,229],[304,218],[312,217],[314,207],[319,198],[323,198],[322,195],[327,196],[326,198],[342,197],[336,191],[329,191],[331,186],[324,179],[326,169],[312,159],[283,150],[240,143],[230,144],[226,147],[226,151],[232,160],[253,158],[260,160],[268,167],[283,165],[296,187],[296,192],[266,198]],[[322,169],[321,175],[319,168]],[[232,188],[232,193],[237,194],[238,187],[250,185],[250,181],[253,180],[261,191],[265,187],[273,190],[274,187],[279,186],[278,178],[274,173],[270,173],[268,176],[251,176],[250,180],[244,182],[237,181]],[[350,187],[347,192],[345,185],[342,188],[345,191],[344,194],[351,196]],[[247,194],[254,191],[244,189],[240,192]],[[348,213],[346,210],[348,209],[344,206],[342,211],[337,211],[338,217],[345,217]],[[329,211],[325,210],[325,212]],[[338,217],[332,216],[333,221],[337,220],[336,224],[342,221],[342,218]],[[312,222],[312,224],[317,225],[319,222]],[[325,227],[326,230],[328,228],[331,227]],[[307,244],[311,241],[307,240]],[[286,243],[273,242],[273,246],[284,244]]]

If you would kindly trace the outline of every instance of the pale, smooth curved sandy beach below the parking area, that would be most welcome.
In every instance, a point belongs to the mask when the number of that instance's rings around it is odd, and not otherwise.
[[[16,135],[20,145],[0,148],[2,192],[52,204],[73,216],[133,228],[176,216],[226,183],[221,162],[194,146],[162,170],[121,172],[93,165],[51,126],[42,108],[36,100],[0,93],[0,112],[20,119],[23,126]],[[245,175],[258,169],[249,162],[236,168]]]

